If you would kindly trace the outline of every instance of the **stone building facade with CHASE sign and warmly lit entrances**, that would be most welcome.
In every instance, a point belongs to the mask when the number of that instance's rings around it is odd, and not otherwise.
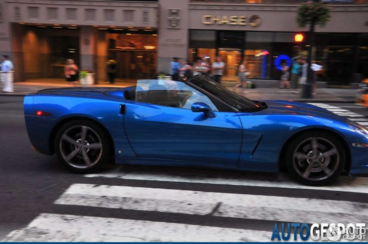
[[[307,55],[308,28],[296,23],[303,2],[0,0],[0,53],[13,60],[15,81],[61,78],[68,58],[106,80],[108,57],[118,63],[118,79],[142,79],[169,73],[172,57],[204,56],[222,57],[224,79],[237,79],[244,58],[251,79],[278,80],[282,60]],[[315,30],[318,79],[361,82],[368,78],[368,1],[329,2],[332,18]]]

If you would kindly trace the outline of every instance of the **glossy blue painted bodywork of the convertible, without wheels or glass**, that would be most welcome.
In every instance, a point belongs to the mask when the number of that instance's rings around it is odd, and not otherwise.
[[[208,118],[189,109],[125,100],[124,90],[129,89],[78,87],[27,95],[24,114],[32,145],[41,153],[52,154],[52,130],[78,117],[106,128],[116,163],[275,172],[287,140],[304,130],[323,129],[346,144],[351,173],[368,173],[368,148],[351,145],[368,143],[368,137],[347,126],[347,119],[323,108],[265,101],[268,108],[262,111],[216,111],[215,118]],[[125,115],[121,106],[126,106]],[[36,116],[36,110],[52,115]]]

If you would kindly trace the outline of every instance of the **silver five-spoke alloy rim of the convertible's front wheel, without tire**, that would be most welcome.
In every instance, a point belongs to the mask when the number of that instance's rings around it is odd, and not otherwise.
[[[318,181],[332,176],[340,164],[335,144],[321,137],[302,141],[293,153],[296,172],[307,180]]]

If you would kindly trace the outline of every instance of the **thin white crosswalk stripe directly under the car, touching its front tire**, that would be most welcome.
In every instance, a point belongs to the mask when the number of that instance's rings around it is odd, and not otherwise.
[[[281,174],[279,174],[281,175]],[[89,174],[85,177],[103,177],[103,178],[115,178],[115,179],[129,179],[129,180],[153,180],[153,181],[166,181],[166,182],[185,182],[185,183],[204,183],[204,184],[225,184],[232,186],[258,186],[258,187],[278,187],[278,188],[291,188],[291,189],[313,189],[313,190],[327,190],[327,191],[346,191],[356,193],[368,194],[368,178],[357,177],[354,181],[349,181],[346,176],[340,176],[339,182],[330,186],[304,186],[297,182],[291,182],[288,179],[276,180],[254,180],[246,178],[225,178],[219,176],[201,175],[198,176],[186,176],[180,175],[180,172],[175,174],[165,173],[103,173],[103,174]]]

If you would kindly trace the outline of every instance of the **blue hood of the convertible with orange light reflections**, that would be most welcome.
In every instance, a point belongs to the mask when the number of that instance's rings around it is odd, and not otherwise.
[[[264,101],[267,104],[265,110],[259,113],[263,114],[285,114],[285,115],[306,115],[306,116],[319,116],[329,119],[335,119],[339,121],[347,121],[346,118],[336,115],[324,108],[320,108],[307,103],[300,103],[296,101]]]

